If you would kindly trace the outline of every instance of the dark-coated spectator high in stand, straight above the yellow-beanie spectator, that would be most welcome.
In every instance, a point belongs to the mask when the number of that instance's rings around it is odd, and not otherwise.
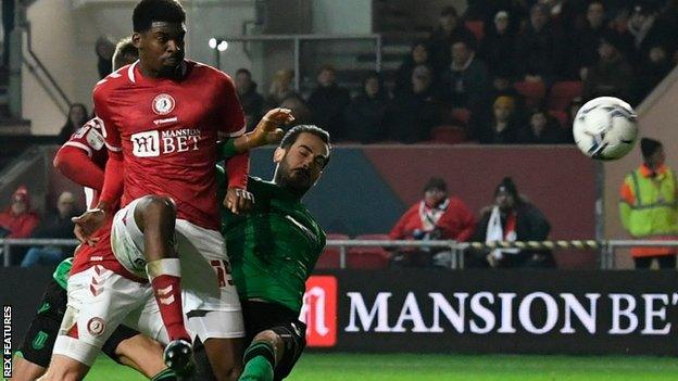
[[[488,64],[488,71],[492,77],[502,75],[514,76],[513,54],[515,52],[515,29],[510,27],[508,13],[500,11],[494,16],[492,27],[488,28],[478,56]]]

